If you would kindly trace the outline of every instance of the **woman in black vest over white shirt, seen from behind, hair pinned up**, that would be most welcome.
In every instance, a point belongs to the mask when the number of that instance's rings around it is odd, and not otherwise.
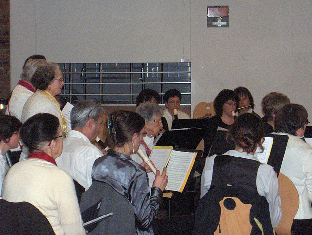
[[[277,176],[272,166],[260,163],[254,156],[258,147],[263,148],[263,141],[264,127],[260,118],[250,113],[237,117],[227,133],[227,142],[234,143],[235,150],[206,158],[201,197],[215,187],[226,187],[230,191],[241,188],[244,195],[266,199],[271,223],[276,227],[282,215]]]

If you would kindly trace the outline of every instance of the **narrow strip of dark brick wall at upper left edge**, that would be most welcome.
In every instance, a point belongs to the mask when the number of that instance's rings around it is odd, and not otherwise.
[[[10,0],[0,0],[0,98],[10,95]]]

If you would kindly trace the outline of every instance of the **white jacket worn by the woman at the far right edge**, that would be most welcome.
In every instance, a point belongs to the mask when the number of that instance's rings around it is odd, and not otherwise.
[[[312,218],[312,148],[300,137],[289,137],[280,172],[295,185],[299,194],[299,208],[295,219]]]

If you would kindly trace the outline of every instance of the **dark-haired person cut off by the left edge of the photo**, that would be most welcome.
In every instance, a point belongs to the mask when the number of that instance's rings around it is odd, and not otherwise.
[[[4,177],[9,170],[5,154],[19,147],[21,122],[14,116],[0,115],[0,195]]]

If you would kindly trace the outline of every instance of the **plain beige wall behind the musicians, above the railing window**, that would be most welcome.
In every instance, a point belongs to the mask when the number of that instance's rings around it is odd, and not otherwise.
[[[192,109],[237,86],[285,93],[312,116],[312,1],[11,0],[11,88],[29,55],[54,62],[192,63]],[[229,28],[207,28],[207,5]],[[24,7],[21,7],[24,6]],[[27,6],[27,7],[25,7]]]

